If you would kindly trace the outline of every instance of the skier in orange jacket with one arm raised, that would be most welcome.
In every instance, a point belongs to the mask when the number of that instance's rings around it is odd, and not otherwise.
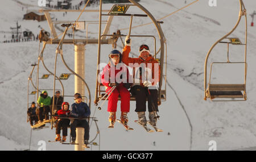
[[[138,113],[138,119],[141,124],[146,126],[147,119],[145,116],[146,111],[146,98],[148,99],[148,118],[153,126],[156,126],[156,112],[158,111],[158,90],[156,84],[160,79],[160,66],[158,61],[150,55],[150,49],[146,44],[142,44],[139,47],[139,57],[131,58],[129,53],[131,51],[131,39],[126,36],[125,47],[123,48],[122,61],[127,66],[129,64],[134,66],[139,65],[139,68],[133,67],[134,81],[131,93],[136,97],[136,109]],[[137,69],[137,72],[135,70]],[[138,72],[139,71],[139,72]],[[150,73],[147,73],[150,71]],[[151,78],[149,76],[151,74]],[[138,76],[139,75],[139,76]],[[150,78],[150,79],[148,79]]]

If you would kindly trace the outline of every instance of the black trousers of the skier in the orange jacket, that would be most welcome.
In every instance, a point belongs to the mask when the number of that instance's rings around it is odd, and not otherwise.
[[[135,85],[131,88],[131,93],[136,97],[135,112],[146,111],[146,99],[148,111],[158,111],[158,90]]]

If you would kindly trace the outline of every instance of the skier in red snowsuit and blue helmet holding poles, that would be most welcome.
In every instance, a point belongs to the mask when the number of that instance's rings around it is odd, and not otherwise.
[[[105,85],[106,93],[109,95],[108,112],[110,113],[109,122],[113,127],[115,113],[117,111],[118,96],[121,96],[121,122],[127,124],[127,113],[130,111],[130,84],[129,71],[121,63],[122,53],[114,49],[109,55],[110,61],[103,69],[101,83]],[[115,86],[115,88],[113,88]],[[114,90],[113,90],[113,89]],[[113,91],[112,91],[113,90]],[[111,93],[112,92],[112,93]]]

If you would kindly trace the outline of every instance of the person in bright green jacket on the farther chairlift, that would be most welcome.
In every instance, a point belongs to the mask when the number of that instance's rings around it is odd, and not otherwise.
[[[43,122],[49,119],[49,105],[51,105],[51,97],[48,96],[46,90],[44,90],[38,98],[39,107],[39,122]],[[43,117],[44,116],[44,117]]]

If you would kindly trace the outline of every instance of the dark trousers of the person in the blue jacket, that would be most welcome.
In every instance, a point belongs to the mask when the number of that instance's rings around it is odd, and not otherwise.
[[[71,136],[72,138],[76,138],[76,127],[83,127],[84,128],[84,140],[89,140],[89,124],[88,122],[80,119],[75,119],[71,123]]]

